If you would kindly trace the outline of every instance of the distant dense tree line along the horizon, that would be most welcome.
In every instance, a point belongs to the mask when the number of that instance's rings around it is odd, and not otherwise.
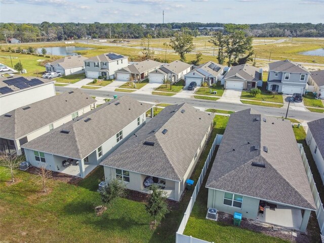
[[[174,37],[177,33],[191,36],[214,35],[223,23],[49,23],[19,24],[0,23],[0,41],[17,38],[21,42],[49,42],[81,38],[153,38]],[[324,24],[312,23],[265,23],[250,24],[245,30],[254,37],[323,37]]]

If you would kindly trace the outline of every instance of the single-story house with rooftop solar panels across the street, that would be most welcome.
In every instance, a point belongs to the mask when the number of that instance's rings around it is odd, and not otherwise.
[[[197,86],[201,86],[201,83],[207,82],[209,86],[212,86],[223,78],[225,72],[225,66],[210,61],[185,74],[184,80],[186,85],[189,85],[191,82],[196,82]]]

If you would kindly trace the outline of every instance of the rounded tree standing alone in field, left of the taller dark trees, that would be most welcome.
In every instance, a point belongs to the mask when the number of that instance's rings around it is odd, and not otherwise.
[[[170,41],[170,47],[179,54],[180,61],[185,62],[185,54],[191,52],[194,48],[193,37],[186,33],[176,33]]]

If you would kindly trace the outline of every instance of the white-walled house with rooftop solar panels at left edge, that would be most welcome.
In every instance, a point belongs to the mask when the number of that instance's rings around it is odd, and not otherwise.
[[[55,80],[42,77],[0,77],[0,115],[55,96],[54,82]]]

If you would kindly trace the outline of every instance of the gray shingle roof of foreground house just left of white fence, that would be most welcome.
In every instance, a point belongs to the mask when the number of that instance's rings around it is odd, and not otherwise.
[[[187,103],[168,106],[101,165],[181,181],[212,122],[212,115]]]

